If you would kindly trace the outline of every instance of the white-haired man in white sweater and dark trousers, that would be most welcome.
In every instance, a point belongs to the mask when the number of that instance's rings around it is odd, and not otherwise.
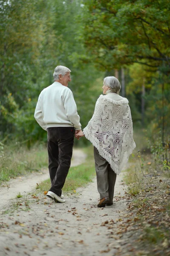
[[[69,172],[74,135],[81,131],[80,116],[68,88],[70,72],[64,66],[55,68],[55,82],[40,93],[34,115],[38,124],[47,130],[51,179],[47,196],[58,203],[65,202],[61,191]]]

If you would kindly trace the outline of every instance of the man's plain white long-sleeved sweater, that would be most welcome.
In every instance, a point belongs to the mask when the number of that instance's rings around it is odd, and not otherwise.
[[[44,130],[49,127],[81,129],[80,116],[72,91],[59,82],[54,82],[42,90],[34,116]]]

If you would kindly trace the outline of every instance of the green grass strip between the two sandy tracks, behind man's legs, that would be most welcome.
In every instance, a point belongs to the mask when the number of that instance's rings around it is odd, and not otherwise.
[[[84,186],[92,181],[92,177],[95,175],[93,147],[89,146],[83,150],[87,155],[86,162],[69,169],[69,174],[62,189],[65,192],[75,192],[78,187]],[[41,191],[48,191],[50,187],[51,182],[48,179],[40,183],[38,188]]]

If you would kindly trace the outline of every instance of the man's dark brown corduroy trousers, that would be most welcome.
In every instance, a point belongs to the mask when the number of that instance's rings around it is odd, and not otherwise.
[[[47,148],[49,155],[49,191],[61,196],[67,174],[69,172],[75,129],[73,127],[47,128]]]

